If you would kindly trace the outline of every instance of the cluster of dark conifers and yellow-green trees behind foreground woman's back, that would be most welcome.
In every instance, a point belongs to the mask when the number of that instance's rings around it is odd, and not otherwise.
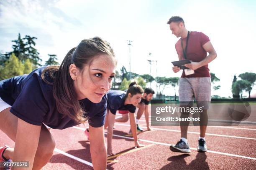
[[[17,40],[12,40],[13,50],[10,52],[0,52],[0,80],[8,79],[17,75],[30,73],[33,69],[42,66],[42,59],[35,48],[36,37],[26,35],[21,38],[18,34]],[[48,54],[49,60],[45,65],[59,65],[55,54]]]

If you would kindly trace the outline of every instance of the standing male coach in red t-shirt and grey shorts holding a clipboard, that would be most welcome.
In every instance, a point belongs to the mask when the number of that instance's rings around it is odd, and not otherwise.
[[[174,16],[167,22],[172,34],[181,37],[175,44],[179,60],[190,60],[191,63],[185,64],[182,76],[179,79],[179,102],[180,106],[192,107],[194,99],[197,101],[197,107],[202,107],[200,113],[200,137],[198,138],[197,151],[206,152],[205,132],[208,122],[207,109],[209,109],[211,100],[211,80],[208,63],[217,57],[217,54],[207,37],[202,32],[188,31],[185,28],[184,20],[181,17]],[[209,55],[207,55],[207,52]],[[181,70],[174,66],[172,70],[176,73]],[[183,104],[182,104],[183,103]],[[188,117],[189,113],[183,112],[181,117]],[[174,146],[170,146],[173,152],[191,152],[187,142],[187,129],[189,122],[181,123],[181,139]]]

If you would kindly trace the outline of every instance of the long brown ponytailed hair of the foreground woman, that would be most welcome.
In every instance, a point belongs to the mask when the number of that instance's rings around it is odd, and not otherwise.
[[[69,74],[69,66],[74,64],[79,70],[82,70],[85,64],[89,64],[93,57],[100,54],[115,57],[110,44],[100,37],[82,40],[77,47],[69,50],[60,66],[46,67],[41,74],[42,79],[48,84],[52,83],[46,80],[46,74],[54,80],[53,95],[58,112],[63,116],[71,117],[77,123],[84,123],[87,121],[87,117],[84,116],[84,110],[77,100],[74,80]]]

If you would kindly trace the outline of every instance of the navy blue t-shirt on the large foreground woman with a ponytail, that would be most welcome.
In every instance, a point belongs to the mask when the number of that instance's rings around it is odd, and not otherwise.
[[[28,75],[0,81],[0,97],[12,106],[10,112],[33,125],[44,123],[54,129],[78,125],[69,116],[64,116],[57,111],[52,91],[53,85],[47,84],[41,78],[44,68],[46,67],[33,70]],[[49,82],[53,82],[47,74],[45,77]],[[88,118],[89,125],[95,128],[104,125],[107,95],[104,95],[99,103],[93,103],[88,99],[79,100],[79,102],[83,104],[84,116]]]

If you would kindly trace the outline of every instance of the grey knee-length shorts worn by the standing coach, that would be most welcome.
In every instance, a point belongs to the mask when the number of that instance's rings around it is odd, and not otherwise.
[[[210,77],[191,77],[180,78],[179,102],[184,105],[191,105],[197,101],[197,107],[209,109],[211,101],[211,78]]]

